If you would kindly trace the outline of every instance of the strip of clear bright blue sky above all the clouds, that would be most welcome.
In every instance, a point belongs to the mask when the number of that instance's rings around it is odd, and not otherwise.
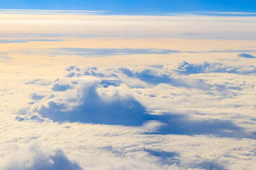
[[[2,9],[108,10],[116,13],[256,12],[255,0],[0,0]]]

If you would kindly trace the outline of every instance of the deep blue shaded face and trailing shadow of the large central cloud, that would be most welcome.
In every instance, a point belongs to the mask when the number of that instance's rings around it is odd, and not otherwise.
[[[34,112],[49,118],[54,122],[81,122],[105,125],[142,126],[148,121],[157,121],[161,126],[155,134],[216,134],[227,137],[241,136],[242,128],[231,121],[225,120],[191,120],[183,114],[165,113],[154,115],[133,97],[121,98],[116,95],[112,100],[102,99],[97,93],[96,86],[85,88],[79,99],[80,105],[67,110],[61,101],[49,100],[47,105],[41,105]],[[72,102],[72,99],[67,102]]]

